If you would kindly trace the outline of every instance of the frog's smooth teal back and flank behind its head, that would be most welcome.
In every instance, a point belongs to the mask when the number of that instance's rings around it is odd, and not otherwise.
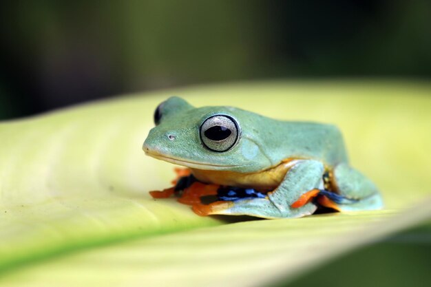
[[[271,120],[273,129],[261,129],[264,152],[274,164],[286,158],[310,158],[328,166],[347,162],[341,132],[334,125]]]

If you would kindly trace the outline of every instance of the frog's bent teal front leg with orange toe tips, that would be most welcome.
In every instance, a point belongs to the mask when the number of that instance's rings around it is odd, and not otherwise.
[[[264,218],[302,217],[311,215],[317,209],[313,202],[299,208],[291,205],[302,194],[317,189],[322,182],[324,166],[316,160],[300,160],[284,176],[281,184],[266,198],[236,200],[234,202],[213,202],[209,205],[193,206],[200,215],[251,215]]]

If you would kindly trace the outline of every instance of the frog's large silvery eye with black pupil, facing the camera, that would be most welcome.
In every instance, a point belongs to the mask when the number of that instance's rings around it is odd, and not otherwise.
[[[238,142],[239,135],[238,124],[230,116],[211,116],[200,126],[200,139],[211,151],[229,151]]]

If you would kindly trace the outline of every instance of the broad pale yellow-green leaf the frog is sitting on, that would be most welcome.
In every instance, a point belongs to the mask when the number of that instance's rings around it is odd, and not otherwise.
[[[335,123],[353,166],[377,183],[386,209],[226,225],[224,217],[198,217],[174,200],[152,200],[147,191],[168,187],[174,173],[140,147],[154,108],[172,94],[196,106],[234,105],[286,120]],[[431,217],[430,95],[431,86],[420,83],[231,84],[2,123],[1,286],[289,281]]]

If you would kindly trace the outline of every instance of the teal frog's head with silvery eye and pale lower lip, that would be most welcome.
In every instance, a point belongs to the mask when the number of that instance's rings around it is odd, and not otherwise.
[[[172,97],[158,105],[148,156],[193,169],[260,171],[271,166],[255,126],[264,117],[233,107],[195,108]]]

